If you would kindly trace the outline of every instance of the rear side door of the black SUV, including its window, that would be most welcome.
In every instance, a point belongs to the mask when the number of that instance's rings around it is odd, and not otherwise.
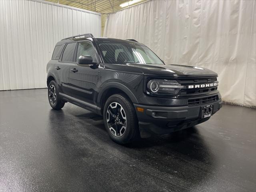
[[[64,51],[60,56],[60,60],[55,64],[55,69],[58,71],[58,82],[60,83],[60,89],[62,93],[70,94],[72,90],[69,88],[69,68],[70,65],[75,63],[74,53],[76,50],[76,42],[67,43],[64,47]]]

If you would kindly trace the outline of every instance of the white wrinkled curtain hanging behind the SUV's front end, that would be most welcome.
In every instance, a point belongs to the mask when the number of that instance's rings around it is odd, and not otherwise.
[[[104,37],[138,40],[166,64],[209,68],[224,101],[256,106],[254,0],[152,0],[110,14]]]

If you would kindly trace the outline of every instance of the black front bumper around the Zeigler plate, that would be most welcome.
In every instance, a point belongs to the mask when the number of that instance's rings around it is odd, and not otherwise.
[[[139,120],[140,136],[146,138],[155,134],[166,134],[205,122],[210,117],[200,118],[199,116],[201,106],[206,105],[213,106],[212,114],[214,114],[222,107],[222,100],[198,106],[178,107],[134,104]],[[144,111],[138,112],[137,107],[143,108]]]

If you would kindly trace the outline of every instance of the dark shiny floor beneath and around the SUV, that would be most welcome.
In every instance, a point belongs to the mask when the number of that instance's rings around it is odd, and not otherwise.
[[[0,92],[0,190],[256,191],[256,110],[224,105],[209,121],[127,146],[102,117],[46,89]]]

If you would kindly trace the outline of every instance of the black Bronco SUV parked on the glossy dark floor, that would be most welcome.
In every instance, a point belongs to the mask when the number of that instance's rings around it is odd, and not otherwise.
[[[132,39],[62,39],[47,73],[52,108],[70,102],[102,115],[110,138],[120,144],[194,126],[222,107],[215,72],[166,65]]]

